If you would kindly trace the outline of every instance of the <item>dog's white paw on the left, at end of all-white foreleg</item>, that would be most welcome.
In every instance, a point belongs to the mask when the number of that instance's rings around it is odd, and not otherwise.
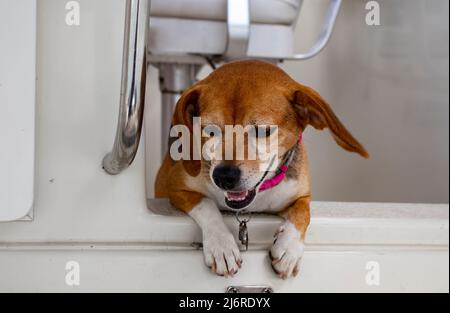
[[[233,235],[228,230],[203,232],[206,265],[219,276],[233,277],[242,266],[242,258]]]

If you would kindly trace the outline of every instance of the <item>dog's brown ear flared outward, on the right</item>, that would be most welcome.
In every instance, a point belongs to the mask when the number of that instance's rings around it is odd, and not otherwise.
[[[328,128],[334,140],[347,151],[356,152],[364,158],[369,157],[366,149],[350,134],[331,110],[329,104],[310,87],[298,84],[293,99],[301,127],[308,125],[316,129]]]

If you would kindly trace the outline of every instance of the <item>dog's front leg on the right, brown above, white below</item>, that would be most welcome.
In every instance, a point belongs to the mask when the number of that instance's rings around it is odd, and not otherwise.
[[[306,231],[310,223],[310,198],[300,198],[283,212],[286,221],[275,234],[270,250],[272,267],[283,279],[297,276],[304,252]]]

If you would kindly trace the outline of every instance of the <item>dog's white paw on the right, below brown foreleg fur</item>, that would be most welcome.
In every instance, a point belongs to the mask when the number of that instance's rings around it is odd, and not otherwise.
[[[297,276],[304,250],[300,232],[291,222],[283,224],[275,234],[275,242],[270,250],[275,273],[282,279]]]

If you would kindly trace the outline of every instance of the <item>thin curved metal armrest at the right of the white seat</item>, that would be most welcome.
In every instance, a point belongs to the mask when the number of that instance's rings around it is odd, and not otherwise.
[[[319,38],[317,39],[314,46],[306,53],[295,54],[293,56],[285,56],[277,59],[280,60],[292,60],[292,61],[301,61],[310,59],[317,54],[319,54],[328,44],[331,38],[331,34],[333,33],[334,25],[336,24],[336,18],[339,14],[339,10],[341,8],[342,0],[330,0],[330,5],[327,10],[327,14],[325,17],[324,26],[322,31],[320,32]],[[258,56],[252,55],[251,57],[258,58]],[[261,57],[264,58],[264,57]],[[266,57],[267,58],[267,57]]]

